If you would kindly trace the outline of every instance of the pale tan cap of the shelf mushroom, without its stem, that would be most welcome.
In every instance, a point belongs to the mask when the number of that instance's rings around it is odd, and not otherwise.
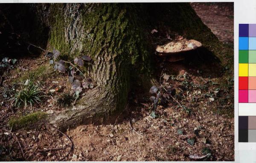
[[[160,56],[177,54],[184,51],[190,51],[202,46],[202,43],[196,40],[177,40],[167,43],[163,46],[157,46],[156,51]]]

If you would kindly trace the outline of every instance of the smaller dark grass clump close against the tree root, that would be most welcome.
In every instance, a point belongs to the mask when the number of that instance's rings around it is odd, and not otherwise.
[[[72,94],[71,92],[63,92],[61,95],[57,98],[57,104],[58,106],[67,108],[71,106],[71,104],[76,100],[76,96]]]

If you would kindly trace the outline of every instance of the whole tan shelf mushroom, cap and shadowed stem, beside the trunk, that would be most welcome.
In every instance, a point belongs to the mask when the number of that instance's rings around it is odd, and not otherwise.
[[[195,50],[202,46],[202,43],[196,40],[179,39],[167,43],[163,46],[157,46],[156,51],[160,57],[167,57],[169,62],[184,60],[188,51]]]

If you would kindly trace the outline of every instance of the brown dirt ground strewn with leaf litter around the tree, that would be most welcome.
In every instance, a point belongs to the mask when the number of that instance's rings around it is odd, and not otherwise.
[[[233,43],[233,10],[230,6],[219,6],[218,3],[192,3],[192,6],[221,41]],[[211,20],[206,20],[204,15],[207,14],[211,15]],[[6,86],[12,88],[16,78],[48,62],[43,56],[19,60],[19,67],[9,72]],[[176,92],[174,99],[162,98],[154,114],[153,104],[148,100],[154,94],[131,92],[125,116],[120,115],[113,124],[81,125],[65,133],[47,124],[38,129],[13,129],[12,132],[1,128],[0,160],[233,161],[233,78],[211,76],[189,63],[164,62],[163,67],[165,69],[158,72],[158,77],[162,74],[170,76],[168,80],[162,77],[161,84]],[[38,77],[34,73],[49,98],[26,112],[61,110],[55,98],[70,89],[70,85],[65,84],[67,79],[49,66],[40,72],[51,72]],[[58,92],[49,92],[59,86]],[[16,111],[2,96],[0,103],[3,126]]]

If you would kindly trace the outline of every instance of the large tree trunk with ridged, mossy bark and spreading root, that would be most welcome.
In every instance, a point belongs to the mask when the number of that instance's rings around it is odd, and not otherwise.
[[[128,92],[136,83],[147,89],[154,80],[154,43],[151,34],[182,35],[201,41],[205,47],[221,46],[188,3],[68,3],[30,4],[31,11],[49,29],[48,48],[61,58],[89,55],[93,62],[83,71],[96,87],[89,89],[75,107],[49,114],[60,129],[79,123],[100,123],[122,112]],[[166,31],[167,29],[167,31]],[[39,33],[38,34],[42,34]],[[162,33],[161,33],[162,32]],[[158,45],[159,45],[158,44]]]

